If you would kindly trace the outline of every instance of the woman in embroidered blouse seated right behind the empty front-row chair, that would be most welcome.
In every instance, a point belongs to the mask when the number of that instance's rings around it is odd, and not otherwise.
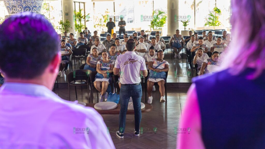
[[[86,65],[84,69],[91,70],[91,71],[96,71],[96,64],[98,63],[99,60],[102,60],[102,56],[98,55],[98,48],[94,47],[91,48],[92,52],[87,56],[86,58]]]

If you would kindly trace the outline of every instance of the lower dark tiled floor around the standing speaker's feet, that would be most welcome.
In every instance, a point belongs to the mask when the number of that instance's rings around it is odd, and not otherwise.
[[[120,139],[116,136],[118,130],[118,115],[102,115],[105,124],[109,127],[109,134],[116,148],[176,148],[175,132],[178,128],[179,119],[186,101],[188,88],[169,88],[167,90],[167,105],[160,103],[160,94],[158,86],[153,93],[152,110],[142,113],[142,121],[140,127],[143,133],[139,137],[134,136],[134,115],[126,116],[126,128],[124,138]],[[94,91],[94,103],[96,102],[96,93]],[[61,98],[69,100],[68,89],[59,86],[55,93]],[[87,89],[77,87],[78,101],[88,103]],[[71,100],[76,100],[74,88],[71,88]],[[145,102],[145,93],[143,93],[142,102]],[[156,132],[154,132],[156,129]],[[106,133],[107,130],[106,130]]]

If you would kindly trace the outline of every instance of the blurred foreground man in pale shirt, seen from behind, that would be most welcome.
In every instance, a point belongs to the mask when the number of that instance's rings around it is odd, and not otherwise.
[[[58,35],[44,16],[13,15],[0,25],[0,34],[1,148],[115,148],[94,108],[51,91],[61,53]]]

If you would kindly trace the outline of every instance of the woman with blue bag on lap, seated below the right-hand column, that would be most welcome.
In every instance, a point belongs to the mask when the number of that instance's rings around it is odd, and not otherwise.
[[[185,43],[183,36],[179,34],[179,30],[176,30],[176,34],[172,35],[170,41],[169,41],[169,45],[171,45],[171,47],[174,49],[175,51],[175,58],[181,58],[179,52],[182,50],[182,43]],[[179,44],[179,47],[176,47],[175,45]]]

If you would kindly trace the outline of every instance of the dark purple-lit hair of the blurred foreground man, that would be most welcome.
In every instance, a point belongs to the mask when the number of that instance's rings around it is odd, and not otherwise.
[[[24,12],[11,16],[0,25],[0,34],[0,68],[9,78],[42,75],[60,51],[58,34],[40,14]]]

